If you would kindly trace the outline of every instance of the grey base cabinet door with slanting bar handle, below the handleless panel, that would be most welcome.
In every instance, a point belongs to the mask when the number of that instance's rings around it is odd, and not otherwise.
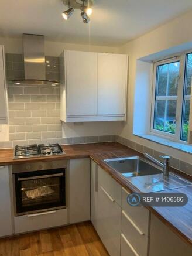
[[[120,255],[121,243],[121,207],[98,185],[97,233],[110,256]]]

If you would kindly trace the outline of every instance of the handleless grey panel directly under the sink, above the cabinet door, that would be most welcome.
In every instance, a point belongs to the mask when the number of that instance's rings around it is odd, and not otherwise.
[[[119,206],[121,206],[121,185],[100,166],[98,166],[98,184],[104,187]]]

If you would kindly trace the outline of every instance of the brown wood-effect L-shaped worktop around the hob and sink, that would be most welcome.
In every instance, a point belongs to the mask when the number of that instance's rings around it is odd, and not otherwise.
[[[13,149],[0,150],[0,165],[13,165],[19,163],[32,163],[42,161],[53,161],[59,159],[92,158],[102,169],[107,171],[117,182],[129,192],[140,192],[128,180],[122,178],[118,172],[102,161],[107,158],[118,158],[124,156],[142,156],[118,142],[105,142],[96,144],[64,145],[66,155],[42,156],[37,158],[13,159]],[[172,171],[175,171],[172,169]],[[178,174],[178,173],[177,173]],[[180,189],[166,190],[166,192],[180,192],[188,196],[188,203],[183,207],[148,207],[160,220],[166,223],[177,235],[192,246],[192,186]]]

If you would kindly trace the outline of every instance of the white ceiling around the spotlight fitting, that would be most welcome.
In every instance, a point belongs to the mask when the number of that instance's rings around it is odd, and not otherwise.
[[[68,21],[62,0],[1,0],[0,36],[41,34],[46,40],[119,46],[192,9],[191,0],[95,0],[90,24],[80,10]]]

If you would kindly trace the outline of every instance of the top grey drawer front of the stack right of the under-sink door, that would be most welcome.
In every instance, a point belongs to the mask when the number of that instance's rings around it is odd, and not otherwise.
[[[132,219],[132,221],[143,231],[149,235],[149,210],[143,206],[131,206],[127,202],[129,193],[122,189],[122,210]]]

